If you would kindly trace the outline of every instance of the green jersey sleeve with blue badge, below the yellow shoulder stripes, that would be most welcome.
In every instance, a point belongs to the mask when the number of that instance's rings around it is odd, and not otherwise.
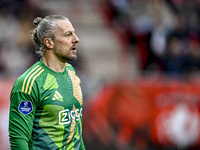
[[[29,150],[35,114],[32,96],[14,92],[11,94],[9,114],[9,136],[11,150]]]

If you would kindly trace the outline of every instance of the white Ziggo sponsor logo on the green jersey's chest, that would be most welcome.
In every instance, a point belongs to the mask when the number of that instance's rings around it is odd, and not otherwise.
[[[82,108],[71,110],[65,109],[59,112],[59,124],[69,124],[72,121],[78,121],[80,117],[82,116]]]

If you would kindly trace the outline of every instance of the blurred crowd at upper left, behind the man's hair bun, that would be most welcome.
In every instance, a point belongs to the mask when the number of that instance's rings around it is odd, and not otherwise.
[[[0,75],[18,77],[39,59],[29,38],[35,17],[46,10],[37,0],[0,1]]]

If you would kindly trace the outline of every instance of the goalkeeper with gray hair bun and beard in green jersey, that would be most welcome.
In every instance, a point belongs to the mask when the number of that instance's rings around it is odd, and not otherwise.
[[[31,31],[39,62],[14,83],[10,96],[11,150],[85,150],[81,82],[68,61],[79,38],[61,15],[37,17]]]

